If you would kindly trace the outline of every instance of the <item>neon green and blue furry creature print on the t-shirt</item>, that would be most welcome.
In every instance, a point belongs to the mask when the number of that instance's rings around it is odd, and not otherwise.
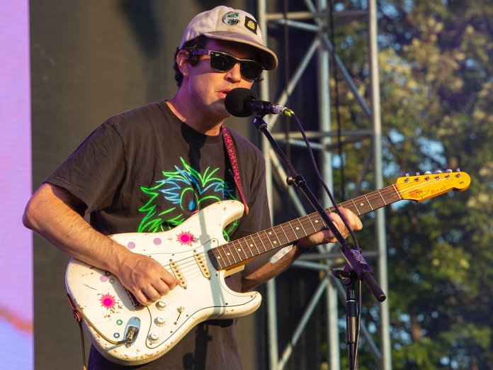
[[[182,167],[175,166],[174,172],[162,172],[163,179],[156,181],[156,186],[141,186],[149,201],[139,208],[145,213],[139,225],[139,232],[160,232],[171,230],[183,223],[190,213],[196,213],[204,205],[217,201],[236,199],[235,191],[227,181],[214,176],[219,168],[207,167],[203,174],[193,169],[181,158]],[[163,208],[165,205],[172,205]],[[162,210],[162,211],[160,211]],[[231,223],[223,231],[225,239],[237,226]]]

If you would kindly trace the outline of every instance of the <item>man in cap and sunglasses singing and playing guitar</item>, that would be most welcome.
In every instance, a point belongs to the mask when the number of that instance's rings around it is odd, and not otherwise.
[[[223,128],[228,92],[250,88],[263,69],[278,63],[263,46],[255,18],[226,6],[200,13],[188,24],[175,62],[176,94],[108,119],[45,180],[23,216],[26,227],[55,247],[118,276],[143,305],[169,293],[179,280],[154,259],[106,235],[171,230],[210,203],[240,198],[249,211],[227,226],[227,240],[270,225],[263,157],[233,131],[234,150],[228,155]],[[234,167],[236,176],[230,171]],[[361,229],[354,213],[343,212],[350,228]],[[90,214],[90,225],[84,214]],[[347,236],[341,218],[331,218]],[[269,255],[254,259],[242,273],[229,276],[227,284],[249,291],[287,268],[303,250],[331,241],[334,235],[328,230],[300,239],[278,262],[270,262]],[[233,320],[216,320],[198,325],[164,356],[137,367],[241,366]],[[91,348],[89,369],[132,367],[113,364]]]

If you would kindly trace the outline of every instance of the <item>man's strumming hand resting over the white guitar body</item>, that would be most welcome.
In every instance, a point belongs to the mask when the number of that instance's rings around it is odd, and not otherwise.
[[[159,262],[138,253],[129,254],[115,274],[143,305],[152,304],[180,284]]]

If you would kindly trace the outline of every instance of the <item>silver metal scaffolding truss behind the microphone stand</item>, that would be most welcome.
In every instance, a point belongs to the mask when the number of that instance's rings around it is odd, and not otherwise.
[[[300,0],[302,1],[302,0]],[[312,147],[319,150],[319,155],[322,160],[322,176],[327,182],[329,189],[332,189],[332,169],[331,169],[331,153],[332,148],[331,137],[334,136],[334,132],[331,131],[330,122],[330,94],[329,94],[329,60],[334,58],[334,62],[344,75],[344,79],[348,86],[350,86],[353,95],[356,97],[359,106],[362,111],[370,120],[372,130],[354,130],[344,133],[345,144],[351,142],[358,142],[360,140],[370,138],[372,140],[371,150],[368,152],[365,164],[363,164],[362,172],[366,170],[370,161],[373,160],[373,169],[375,172],[375,189],[382,188],[382,155],[381,155],[381,125],[380,125],[380,90],[378,86],[378,48],[377,48],[377,16],[376,16],[376,0],[368,0],[368,9],[363,11],[349,11],[346,14],[339,13],[339,16],[365,16],[368,18],[368,33],[369,37],[369,50],[368,55],[370,64],[370,91],[371,101],[370,106],[365,102],[365,99],[361,97],[356,84],[353,83],[351,76],[348,74],[346,67],[341,59],[336,55],[334,47],[329,39],[328,22],[329,12],[327,11],[327,1],[317,0],[317,4],[313,4],[310,0],[304,0],[303,3],[306,6],[306,11],[288,12],[288,13],[268,13],[267,1],[258,1],[259,25],[264,32],[268,35],[269,25],[271,23],[278,23],[287,25],[293,32],[296,30],[304,30],[305,32],[311,31],[313,33],[312,43],[309,45],[305,57],[300,61],[295,70],[295,73],[290,78],[287,86],[280,93],[280,96],[276,96],[274,101],[281,105],[285,105],[288,96],[292,93],[295,86],[300,82],[308,63],[312,58],[317,58],[317,80],[319,84],[317,86],[318,106],[319,106],[319,130],[317,132],[308,133],[309,139],[317,139],[319,142],[312,143]],[[307,23],[305,21],[309,20]],[[268,38],[266,38],[268,40]],[[261,84],[261,99],[269,101],[269,84],[268,76],[266,75],[265,81]],[[273,129],[276,126],[278,116],[272,116],[269,118],[269,128]],[[275,134],[274,134],[275,135]],[[277,136],[278,140],[285,140],[285,133]],[[300,141],[300,135],[290,133],[288,141],[291,145],[305,145]],[[267,188],[269,198],[272,199],[273,194],[273,177],[278,176],[279,179],[286,179],[283,166],[280,164],[276,153],[271,150],[270,145],[263,139],[263,152],[266,157],[267,168]],[[300,215],[306,215],[307,212],[294,189],[288,189],[290,199]],[[322,204],[329,204],[329,198],[322,199]],[[273,207],[271,206],[271,210]],[[377,280],[382,286],[384,292],[388,291],[387,283],[387,252],[385,244],[385,219],[383,210],[375,211],[375,240],[378,245],[378,250],[373,254],[373,257],[378,259],[378,271]],[[313,254],[310,257],[308,254],[306,257],[299,259],[295,262],[295,265],[305,269],[316,269],[317,271],[324,271],[324,278],[319,281],[319,286],[312,296],[311,300],[307,302],[305,314],[297,324],[297,328],[291,337],[289,344],[281,352],[278,349],[278,327],[276,317],[276,284],[275,281],[269,281],[267,284],[267,310],[268,310],[268,347],[269,347],[269,364],[270,369],[283,369],[287,364],[290,355],[293,353],[293,349],[299,339],[302,331],[307,324],[310,315],[314,312],[314,308],[317,303],[323,298],[326,300],[325,305],[327,307],[327,359],[329,359],[329,369],[341,369],[341,362],[339,358],[339,330],[337,316],[338,296],[339,304],[345,304],[345,288],[342,286],[339,280],[331,277],[329,262],[335,258],[341,257],[341,254],[337,251],[335,245],[325,245],[318,247],[318,253]],[[370,257],[370,253],[365,252],[365,256]],[[310,257],[310,258],[309,258]],[[324,261],[320,263],[319,261]],[[340,298],[342,298],[340,300]],[[388,311],[388,298],[386,301],[380,304],[380,349],[375,344],[373,337],[368,332],[365,325],[362,323],[361,336],[365,339],[365,345],[370,349],[370,352],[375,357],[375,361],[378,363],[379,369],[390,370],[392,364],[390,361],[390,319]],[[279,357],[279,353],[281,353]]]

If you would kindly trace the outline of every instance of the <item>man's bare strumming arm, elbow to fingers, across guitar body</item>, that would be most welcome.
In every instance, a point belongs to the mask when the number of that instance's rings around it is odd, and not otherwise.
[[[69,191],[42,184],[26,206],[23,223],[62,252],[118,276],[144,305],[179,284],[154,259],[133,253],[91,228],[79,214],[82,208],[84,203]]]

